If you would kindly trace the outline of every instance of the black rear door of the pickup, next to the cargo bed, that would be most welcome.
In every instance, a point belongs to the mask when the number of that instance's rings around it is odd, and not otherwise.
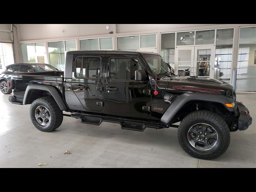
[[[104,54],[74,55],[73,65],[71,90],[80,100],[84,110],[102,111]]]

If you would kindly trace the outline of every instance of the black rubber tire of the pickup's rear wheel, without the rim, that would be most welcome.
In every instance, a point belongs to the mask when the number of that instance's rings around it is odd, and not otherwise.
[[[50,122],[42,125],[36,120],[35,111],[38,106],[44,106],[50,112]],[[42,97],[34,100],[30,106],[30,118],[34,126],[43,132],[50,132],[57,129],[63,120],[63,113],[52,97]]]

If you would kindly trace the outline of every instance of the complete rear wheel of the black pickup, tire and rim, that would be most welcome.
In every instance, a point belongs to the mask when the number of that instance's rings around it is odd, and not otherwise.
[[[53,98],[42,97],[32,102],[30,118],[38,130],[50,132],[62,124],[63,113]]]

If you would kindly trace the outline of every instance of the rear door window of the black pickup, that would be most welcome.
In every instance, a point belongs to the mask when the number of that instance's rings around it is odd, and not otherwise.
[[[78,78],[100,78],[100,57],[77,57],[76,77]]]

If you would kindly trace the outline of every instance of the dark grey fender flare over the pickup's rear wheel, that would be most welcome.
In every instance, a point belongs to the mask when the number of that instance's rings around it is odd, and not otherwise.
[[[29,84],[26,88],[25,94],[24,94],[24,98],[23,98],[23,104],[26,105],[28,104],[28,98],[30,96],[30,94],[32,92],[30,92],[31,90],[43,90],[43,91],[47,91],[49,92],[52,97],[54,98],[54,100],[56,101],[56,103],[58,104],[60,110],[67,110],[67,106],[64,103],[62,97],[60,96],[58,90],[54,87],[54,86],[50,86],[50,85],[42,85],[42,84]]]

